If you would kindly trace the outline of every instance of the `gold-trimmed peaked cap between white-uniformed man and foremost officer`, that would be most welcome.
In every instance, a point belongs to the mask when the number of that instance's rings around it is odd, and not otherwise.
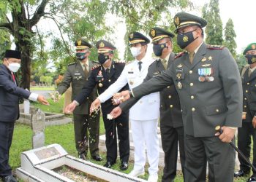
[[[149,36],[151,37],[152,42],[155,42],[155,41],[164,39],[165,37],[173,38],[174,34],[171,33],[170,31],[165,31],[162,28],[154,27],[154,28],[151,28],[151,30],[149,32]]]

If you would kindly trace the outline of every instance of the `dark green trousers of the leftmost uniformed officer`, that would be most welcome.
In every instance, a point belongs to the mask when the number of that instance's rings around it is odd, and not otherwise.
[[[99,114],[73,114],[75,147],[78,153],[87,155],[88,146],[91,157],[99,154]]]

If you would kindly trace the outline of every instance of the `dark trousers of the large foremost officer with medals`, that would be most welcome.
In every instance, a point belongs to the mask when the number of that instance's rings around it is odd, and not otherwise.
[[[185,181],[205,182],[208,162],[209,182],[233,182],[235,150],[218,137],[195,138],[185,135]]]

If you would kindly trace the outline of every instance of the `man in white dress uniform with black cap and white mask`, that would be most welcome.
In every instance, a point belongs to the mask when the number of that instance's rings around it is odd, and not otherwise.
[[[91,104],[91,109],[95,109],[100,103],[104,103],[124,87],[129,84],[132,89],[143,82],[148,74],[148,66],[154,61],[146,57],[147,44],[149,39],[138,32],[129,33],[129,46],[135,60],[124,67],[119,78],[108,90],[105,90]],[[148,157],[148,181],[157,182],[158,162],[159,162],[159,141],[157,138],[157,125],[159,118],[159,92],[151,93],[140,98],[129,110],[129,120],[132,127],[132,138],[135,145],[135,165],[129,175],[144,175],[146,164],[146,153]],[[146,146],[146,151],[145,151]]]

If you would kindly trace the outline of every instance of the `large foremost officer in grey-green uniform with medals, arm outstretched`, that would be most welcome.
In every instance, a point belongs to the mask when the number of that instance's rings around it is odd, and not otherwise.
[[[225,47],[206,45],[201,17],[179,12],[174,17],[177,43],[186,50],[167,71],[121,92],[122,100],[140,98],[174,84],[181,101],[185,141],[185,181],[233,182],[235,151],[228,144],[241,127],[242,87],[236,61]],[[120,107],[125,103],[121,103]],[[118,116],[115,108],[111,115]],[[222,127],[222,134],[215,127]],[[219,137],[217,137],[219,136]]]

